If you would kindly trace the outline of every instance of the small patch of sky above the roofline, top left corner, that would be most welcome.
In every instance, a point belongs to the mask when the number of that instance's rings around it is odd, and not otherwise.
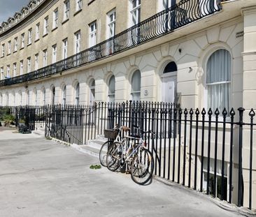
[[[29,0],[0,0],[0,24],[12,17],[15,11],[20,11],[22,6],[27,6]]]

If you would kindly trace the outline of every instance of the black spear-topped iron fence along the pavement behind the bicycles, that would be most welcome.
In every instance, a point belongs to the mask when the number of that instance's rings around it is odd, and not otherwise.
[[[43,126],[45,136],[86,144],[115,124],[152,130],[146,135],[155,159],[155,175],[256,209],[255,111],[181,109],[176,104],[99,102],[90,106],[52,105],[12,107],[31,113],[32,128]],[[1,111],[1,108],[0,108]],[[22,113],[23,112],[23,113]],[[38,118],[41,114],[41,119]],[[40,115],[39,115],[40,116]]]

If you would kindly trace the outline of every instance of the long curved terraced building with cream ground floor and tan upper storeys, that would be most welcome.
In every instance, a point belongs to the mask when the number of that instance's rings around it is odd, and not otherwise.
[[[0,105],[248,112],[255,72],[255,0],[37,0],[0,26]]]

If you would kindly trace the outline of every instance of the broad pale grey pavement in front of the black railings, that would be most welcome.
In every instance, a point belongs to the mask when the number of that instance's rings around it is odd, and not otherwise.
[[[92,164],[98,158],[64,144],[0,131],[0,216],[240,216],[194,190],[156,179],[139,186]]]

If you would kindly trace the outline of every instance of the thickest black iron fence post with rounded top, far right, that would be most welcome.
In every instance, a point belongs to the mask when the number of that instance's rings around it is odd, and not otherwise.
[[[243,150],[243,112],[244,108],[239,107],[239,193],[238,206],[243,206],[243,167],[242,167],[242,150]]]

